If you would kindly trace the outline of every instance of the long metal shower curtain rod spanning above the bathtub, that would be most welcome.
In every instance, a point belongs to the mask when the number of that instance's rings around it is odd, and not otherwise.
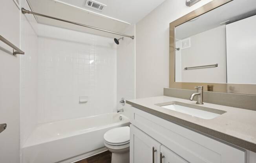
[[[71,23],[71,24],[75,24],[75,25],[80,25],[82,27],[96,29],[96,30],[99,30],[99,31],[104,31],[104,32],[107,32],[107,33],[117,34],[117,35],[120,35],[120,36],[129,37],[129,38],[134,39],[134,36],[129,36],[129,35],[122,34],[122,33],[112,32],[112,31],[108,31],[108,30],[105,30],[105,29],[100,29],[100,28],[97,28],[97,27],[93,27],[93,26],[90,26],[90,25],[85,25],[85,24],[80,24],[80,23],[76,23],[76,22],[71,22],[71,21],[68,21],[68,20],[64,20],[64,19],[60,19],[60,18],[55,18],[53,16],[48,16],[48,15],[44,15],[44,14],[34,13],[34,12],[28,11],[28,10],[26,10],[24,8],[22,8],[21,10],[22,10],[23,14],[33,14],[33,15],[43,16],[43,17],[46,17],[46,18],[51,18],[51,19],[62,21],[62,22],[67,22],[67,23]]]

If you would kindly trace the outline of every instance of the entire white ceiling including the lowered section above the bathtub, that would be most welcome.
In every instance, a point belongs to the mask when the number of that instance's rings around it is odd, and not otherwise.
[[[27,0],[35,13],[86,24],[93,27],[123,33],[130,24],[135,24],[165,0],[96,0],[107,7],[97,11],[85,6],[86,0]],[[38,23],[97,34],[106,37],[119,37],[78,25],[36,16]]]

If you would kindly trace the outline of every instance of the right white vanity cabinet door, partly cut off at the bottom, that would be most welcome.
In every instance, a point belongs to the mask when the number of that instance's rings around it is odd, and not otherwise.
[[[161,145],[160,152],[162,154],[161,161],[162,163],[189,163],[185,159],[181,158],[179,155],[172,152],[170,149]],[[160,158],[159,158],[160,159]],[[159,160],[159,162],[161,163]]]

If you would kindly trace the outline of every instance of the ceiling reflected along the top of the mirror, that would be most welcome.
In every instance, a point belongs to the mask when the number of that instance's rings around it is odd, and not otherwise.
[[[256,0],[233,0],[217,9],[198,16],[194,21],[188,21],[175,29],[175,37],[183,39],[202,33],[209,29],[219,27],[222,22],[226,24],[236,22],[256,14]]]

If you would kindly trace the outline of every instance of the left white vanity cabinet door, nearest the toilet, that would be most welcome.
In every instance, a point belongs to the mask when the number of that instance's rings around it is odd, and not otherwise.
[[[159,163],[159,154],[160,143],[131,125],[130,163]]]

